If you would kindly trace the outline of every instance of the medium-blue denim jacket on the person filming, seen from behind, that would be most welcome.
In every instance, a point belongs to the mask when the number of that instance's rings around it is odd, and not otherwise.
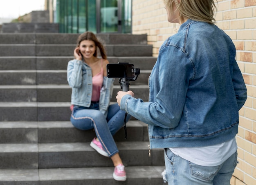
[[[247,99],[230,37],[187,20],[159,48],[149,102],[125,95],[121,109],[148,124],[150,148],[200,147],[233,139]]]

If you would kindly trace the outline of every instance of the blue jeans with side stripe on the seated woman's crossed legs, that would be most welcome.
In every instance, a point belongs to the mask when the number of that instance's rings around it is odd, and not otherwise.
[[[92,103],[89,108],[74,106],[70,121],[80,130],[94,129],[97,138],[109,156],[118,153],[113,135],[123,126],[125,111],[118,104],[108,107],[107,118],[99,111],[99,103]],[[126,121],[130,119],[127,115]]]

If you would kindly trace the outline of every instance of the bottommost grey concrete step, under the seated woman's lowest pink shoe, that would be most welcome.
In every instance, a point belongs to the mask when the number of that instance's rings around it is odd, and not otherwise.
[[[114,167],[0,170],[0,185],[164,185],[164,166],[128,166],[127,180],[115,181]]]

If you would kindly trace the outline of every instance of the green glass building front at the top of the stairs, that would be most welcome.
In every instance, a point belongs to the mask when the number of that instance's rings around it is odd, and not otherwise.
[[[55,0],[53,3],[60,33],[132,31],[132,0]]]

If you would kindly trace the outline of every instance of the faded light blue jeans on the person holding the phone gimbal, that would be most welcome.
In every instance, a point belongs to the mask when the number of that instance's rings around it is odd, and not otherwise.
[[[166,166],[164,179],[169,185],[230,185],[230,179],[237,165],[237,152],[221,165],[213,167],[191,163],[173,154],[168,148],[164,149],[164,160]]]

